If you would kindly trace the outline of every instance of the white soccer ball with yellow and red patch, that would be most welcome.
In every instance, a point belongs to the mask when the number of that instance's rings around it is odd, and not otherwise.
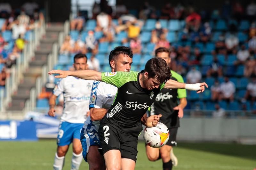
[[[156,126],[144,129],[143,138],[148,146],[160,148],[168,142],[169,129],[163,123],[158,122]]]

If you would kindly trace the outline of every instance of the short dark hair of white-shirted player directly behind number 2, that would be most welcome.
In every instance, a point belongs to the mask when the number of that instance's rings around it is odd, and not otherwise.
[[[125,46],[117,46],[112,51],[110,51],[110,54],[108,56],[108,63],[110,67],[111,67],[110,61],[113,61],[113,60],[116,61],[116,58],[119,54],[128,55],[130,58],[133,57],[131,48],[125,47]]]

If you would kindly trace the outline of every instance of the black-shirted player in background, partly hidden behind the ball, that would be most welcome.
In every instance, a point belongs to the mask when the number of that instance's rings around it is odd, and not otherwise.
[[[156,57],[162,58],[169,65],[171,63],[170,50],[168,48],[157,48]],[[171,79],[184,83],[181,75],[171,70]],[[170,132],[166,145],[161,148],[152,148],[146,145],[147,157],[150,161],[163,160],[163,169],[170,170],[172,165],[178,165],[178,159],[173,153],[172,146],[176,146],[176,136],[180,126],[179,118],[183,117],[183,108],[187,105],[186,89],[162,89],[156,96],[156,100],[150,107],[150,115],[162,114],[159,122],[164,123]],[[179,104],[178,104],[179,99]]]

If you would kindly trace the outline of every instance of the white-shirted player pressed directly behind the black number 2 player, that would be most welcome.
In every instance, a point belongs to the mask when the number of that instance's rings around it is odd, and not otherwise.
[[[132,51],[128,47],[118,46],[109,54],[109,65],[111,72],[128,72],[132,65]],[[104,117],[112,105],[117,92],[117,87],[105,82],[94,81],[90,98],[90,116],[84,122],[81,130],[81,143],[83,147],[83,157],[88,162],[90,170],[105,170],[104,158],[98,148],[98,130],[100,119]]]

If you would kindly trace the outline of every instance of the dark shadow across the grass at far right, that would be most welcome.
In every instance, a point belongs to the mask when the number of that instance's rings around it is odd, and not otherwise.
[[[256,145],[243,145],[243,144],[227,144],[227,143],[180,143],[180,148],[186,148],[191,150],[199,150],[205,152],[213,152],[223,155],[229,155],[234,157],[241,157],[246,159],[256,160]]]

